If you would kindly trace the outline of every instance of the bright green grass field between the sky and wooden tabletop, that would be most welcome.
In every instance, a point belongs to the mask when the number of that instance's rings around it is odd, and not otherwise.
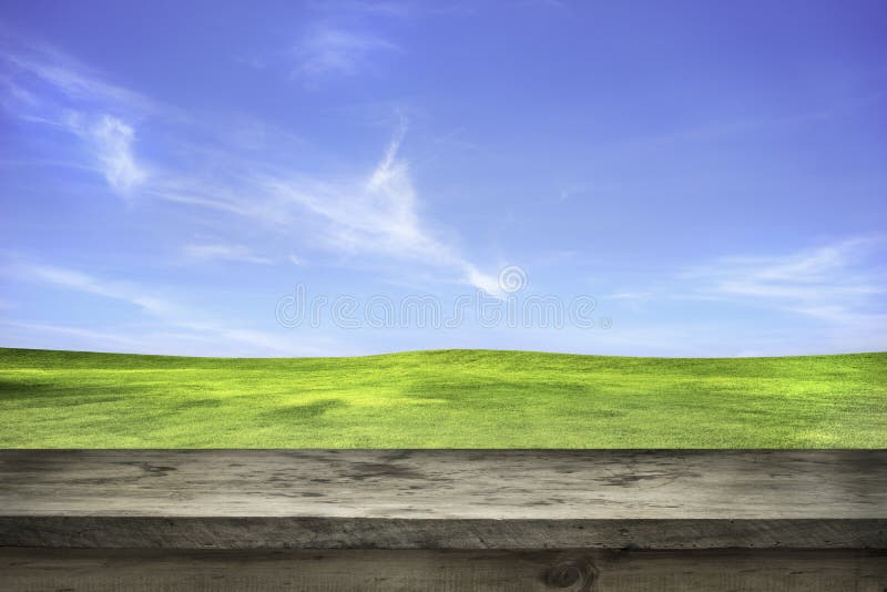
[[[0,349],[6,448],[887,448],[887,354]]]

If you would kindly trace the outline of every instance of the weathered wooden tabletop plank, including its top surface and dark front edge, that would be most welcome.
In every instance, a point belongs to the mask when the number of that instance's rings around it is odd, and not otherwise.
[[[887,549],[887,451],[6,450],[0,547]]]

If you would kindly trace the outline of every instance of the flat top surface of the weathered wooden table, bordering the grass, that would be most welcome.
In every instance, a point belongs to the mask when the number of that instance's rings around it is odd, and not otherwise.
[[[6,516],[886,518],[887,450],[0,450]]]

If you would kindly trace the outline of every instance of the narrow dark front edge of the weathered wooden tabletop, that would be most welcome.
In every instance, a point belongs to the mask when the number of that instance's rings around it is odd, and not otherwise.
[[[881,520],[0,517],[0,547],[109,549],[887,549]]]

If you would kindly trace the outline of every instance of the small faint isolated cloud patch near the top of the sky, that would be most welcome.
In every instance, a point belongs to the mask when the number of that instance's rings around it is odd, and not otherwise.
[[[294,74],[314,86],[329,75],[365,71],[379,53],[398,50],[395,43],[374,33],[320,24],[309,30],[296,45]]]

